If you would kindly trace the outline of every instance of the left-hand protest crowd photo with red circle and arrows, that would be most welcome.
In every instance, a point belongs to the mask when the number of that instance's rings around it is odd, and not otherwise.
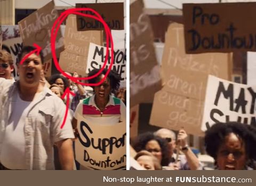
[[[16,25],[1,22],[0,170],[126,169],[124,3],[90,4],[115,22],[108,28],[69,14],[56,31],[53,53],[54,21],[71,8],[58,7],[47,1],[18,15]],[[113,34],[115,45],[106,44],[107,29],[121,30],[122,41]],[[114,55],[107,54],[110,46]]]

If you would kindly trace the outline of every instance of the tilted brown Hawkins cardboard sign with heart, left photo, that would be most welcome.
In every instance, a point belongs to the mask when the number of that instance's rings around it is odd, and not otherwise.
[[[58,11],[54,9],[54,2],[51,1],[19,22],[23,44],[32,46],[36,43],[41,46],[45,60],[52,58],[51,29],[58,17]],[[60,30],[56,37],[55,49],[57,57],[64,49]]]

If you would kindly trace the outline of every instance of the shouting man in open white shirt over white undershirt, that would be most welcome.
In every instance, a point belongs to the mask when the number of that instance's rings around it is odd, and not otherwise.
[[[19,61],[35,49],[23,47]],[[17,82],[0,78],[0,169],[54,169],[54,143],[61,168],[73,169],[71,117],[60,128],[66,106],[41,82],[43,63],[42,52],[30,54]]]

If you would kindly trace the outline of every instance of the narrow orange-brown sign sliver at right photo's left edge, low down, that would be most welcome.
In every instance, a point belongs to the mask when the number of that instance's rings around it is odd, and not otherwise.
[[[139,126],[139,104],[130,109],[130,138],[138,135]]]

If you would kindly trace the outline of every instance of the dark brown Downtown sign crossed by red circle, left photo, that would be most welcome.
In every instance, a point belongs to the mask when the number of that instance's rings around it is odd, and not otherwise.
[[[124,29],[124,3],[78,3],[76,8],[90,8],[97,11],[110,30]],[[95,15],[91,11],[82,11],[82,13]],[[104,26],[98,20],[77,15],[77,30],[104,30]]]

